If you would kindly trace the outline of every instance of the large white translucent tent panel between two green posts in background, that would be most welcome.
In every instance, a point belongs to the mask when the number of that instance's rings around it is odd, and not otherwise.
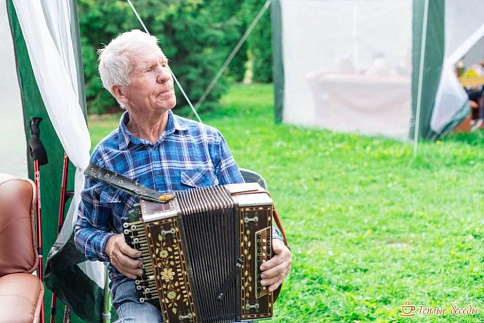
[[[283,121],[407,139],[412,1],[280,3]]]

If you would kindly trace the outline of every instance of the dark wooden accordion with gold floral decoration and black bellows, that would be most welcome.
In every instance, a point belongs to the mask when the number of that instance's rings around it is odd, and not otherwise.
[[[274,295],[261,286],[272,256],[273,203],[258,184],[195,188],[168,203],[142,200],[124,224],[141,250],[139,300],[158,300],[165,323],[272,317]]]

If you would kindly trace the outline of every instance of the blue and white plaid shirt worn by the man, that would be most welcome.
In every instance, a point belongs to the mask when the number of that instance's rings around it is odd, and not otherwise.
[[[168,112],[165,131],[153,144],[127,129],[129,114],[95,148],[91,162],[123,174],[159,192],[243,183],[222,134],[210,126]],[[75,228],[75,243],[89,260],[109,261],[108,239],[122,232],[122,223],[139,199],[86,176]],[[127,277],[109,265],[112,290]]]

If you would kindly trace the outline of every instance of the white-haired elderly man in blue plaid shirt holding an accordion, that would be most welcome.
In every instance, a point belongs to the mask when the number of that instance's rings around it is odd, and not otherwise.
[[[173,79],[155,37],[133,30],[99,52],[103,85],[127,111],[119,127],[97,145],[92,163],[160,192],[244,181],[219,131],[172,113]],[[138,302],[133,279],[143,272],[140,252],[120,233],[137,202],[86,177],[75,242],[88,259],[109,262],[119,322],[162,322],[156,305]],[[261,283],[270,291],[279,287],[291,265],[290,251],[275,236],[274,257],[261,266]]]

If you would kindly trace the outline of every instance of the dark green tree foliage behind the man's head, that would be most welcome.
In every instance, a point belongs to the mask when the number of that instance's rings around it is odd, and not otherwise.
[[[133,4],[150,33],[159,39],[173,73],[195,103],[245,32],[248,17],[252,21],[260,9],[258,2],[262,3],[256,0],[139,0],[133,1]],[[251,13],[244,10],[251,10]],[[102,87],[96,51],[122,32],[143,28],[125,0],[78,0],[78,12],[88,110],[90,113],[104,113],[116,109],[117,103]],[[266,13],[264,18],[270,17]],[[228,82],[243,79],[248,50],[254,56],[254,68],[257,69],[254,75],[260,73],[260,66],[265,65],[262,62],[267,58],[259,59],[258,55],[266,55],[267,50],[255,49],[254,46],[261,46],[266,41],[255,40],[258,35],[266,36],[264,28],[254,30],[254,35],[235,56],[202,109],[215,108]],[[268,35],[270,37],[270,29]],[[267,44],[270,55],[270,38],[263,47]],[[267,69],[267,66],[264,68]],[[267,82],[271,77],[256,76],[254,80]],[[176,94],[177,106],[185,106],[187,102],[178,87]]]

